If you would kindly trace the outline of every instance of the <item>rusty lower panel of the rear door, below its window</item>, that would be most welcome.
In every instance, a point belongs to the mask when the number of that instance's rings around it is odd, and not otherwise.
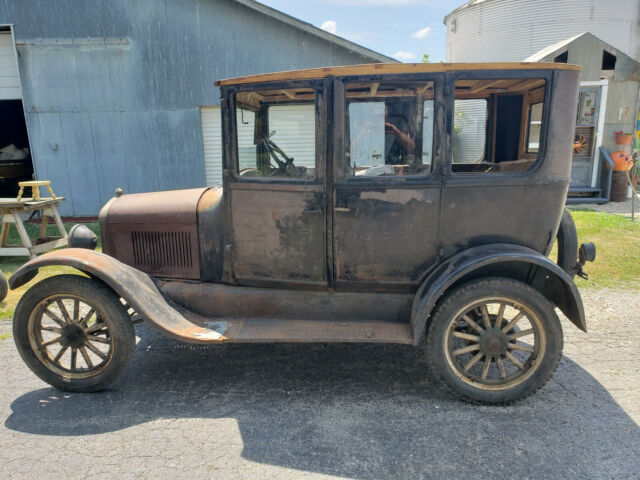
[[[336,189],[338,282],[413,288],[437,257],[440,184]]]

